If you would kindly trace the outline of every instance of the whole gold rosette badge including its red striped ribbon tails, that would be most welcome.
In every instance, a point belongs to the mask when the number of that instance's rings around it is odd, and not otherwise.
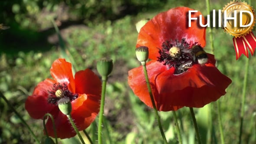
[[[228,3],[222,10],[222,26],[226,33],[233,37],[236,51],[236,59],[244,54],[249,58],[249,51],[253,56],[256,48],[256,37],[253,35],[256,15],[253,7],[246,2],[233,1]]]

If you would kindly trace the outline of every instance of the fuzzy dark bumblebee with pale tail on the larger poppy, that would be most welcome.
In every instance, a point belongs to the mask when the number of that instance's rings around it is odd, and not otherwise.
[[[197,62],[200,65],[203,65],[208,61],[206,52],[199,45],[192,46],[191,54],[193,56],[194,62]]]

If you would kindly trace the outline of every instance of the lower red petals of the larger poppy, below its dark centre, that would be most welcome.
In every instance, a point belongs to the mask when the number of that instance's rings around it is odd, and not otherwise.
[[[174,75],[173,67],[167,69],[157,61],[148,62],[148,76],[154,85],[158,111],[177,110],[183,106],[200,108],[225,95],[232,81],[214,66],[214,56],[208,54],[208,57],[207,64],[195,64],[180,75]],[[152,107],[142,67],[128,72],[128,84],[141,101]]]

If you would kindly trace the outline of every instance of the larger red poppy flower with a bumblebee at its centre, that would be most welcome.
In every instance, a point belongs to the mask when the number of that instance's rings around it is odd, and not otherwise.
[[[215,67],[214,56],[202,49],[205,28],[198,27],[197,20],[192,20],[191,27],[187,26],[189,10],[192,9],[177,7],[159,13],[138,34],[136,47],[147,46],[152,59],[146,66],[159,111],[203,107],[225,95],[231,83]],[[192,16],[200,14],[192,13]],[[128,72],[128,84],[152,108],[141,66]]]

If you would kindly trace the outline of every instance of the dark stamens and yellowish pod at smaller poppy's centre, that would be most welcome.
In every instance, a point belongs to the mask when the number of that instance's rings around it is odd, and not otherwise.
[[[73,101],[78,98],[78,94],[70,92],[68,86],[65,83],[53,84],[53,88],[49,90],[48,93],[48,102],[54,105],[57,105],[58,101],[63,98],[68,98],[69,101]]]

